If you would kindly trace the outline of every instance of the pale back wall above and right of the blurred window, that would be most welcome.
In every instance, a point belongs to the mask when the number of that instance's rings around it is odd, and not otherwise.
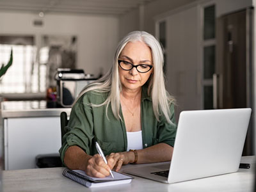
[[[0,34],[76,35],[77,68],[87,74],[108,71],[118,43],[118,18],[106,15],[45,14],[44,26],[33,26],[37,14],[0,12]]]

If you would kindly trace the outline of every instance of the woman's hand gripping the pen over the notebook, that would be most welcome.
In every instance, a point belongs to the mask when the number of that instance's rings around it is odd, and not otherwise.
[[[113,159],[108,159],[108,164],[113,164]],[[107,177],[110,174],[110,168],[104,162],[99,154],[95,154],[90,159],[88,159],[86,164],[86,174],[91,177]]]

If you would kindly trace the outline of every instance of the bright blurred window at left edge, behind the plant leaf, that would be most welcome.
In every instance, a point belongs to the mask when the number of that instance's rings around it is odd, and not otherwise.
[[[38,66],[33,36],[0,36],[0,63],[13,63],[0,79],[0,93],[45,92],[45,66]]]

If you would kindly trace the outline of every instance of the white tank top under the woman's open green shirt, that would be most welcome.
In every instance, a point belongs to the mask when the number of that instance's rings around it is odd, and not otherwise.
[[[143,149],[142,132],[127,132],[127,151]]]

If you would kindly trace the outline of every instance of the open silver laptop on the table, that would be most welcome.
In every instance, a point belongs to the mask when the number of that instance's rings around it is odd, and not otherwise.
[[[251,112],[182,111],[171,163],[127,168],[124,173],[171,184],[237,172]]]

